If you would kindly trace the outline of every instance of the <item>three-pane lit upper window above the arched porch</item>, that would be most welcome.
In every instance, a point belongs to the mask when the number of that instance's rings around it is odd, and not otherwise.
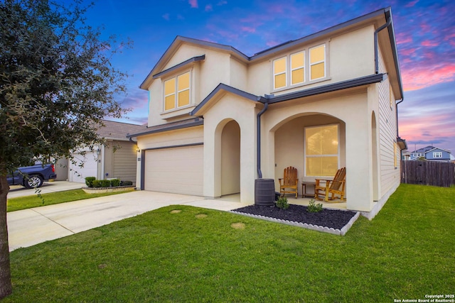
[[[273,60],[274,90],[311,83],[326,77],[326,43]]]

